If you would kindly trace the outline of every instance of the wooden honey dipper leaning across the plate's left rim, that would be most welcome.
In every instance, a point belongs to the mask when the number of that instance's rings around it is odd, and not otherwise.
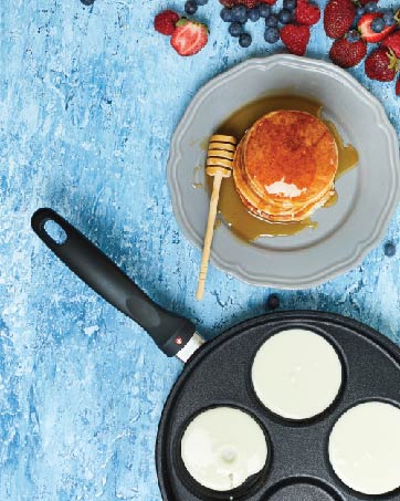
[[[196,293],[196,299],[201,301],[204,294],[207,271],[209,268],[210,251],[212,237],[214,233],[214,225],[217,217],[218,200],[220,198],[221,181],[224,177],[230,177],[232,174],[233,156],[236,149],[236,138],[215,134],[211,136],[209,150],[206,163],[206,174],[214,178],[212,185],[212,194],[210,198],[209,218],[207,221],[203,252],[201,255],[199,283]]]

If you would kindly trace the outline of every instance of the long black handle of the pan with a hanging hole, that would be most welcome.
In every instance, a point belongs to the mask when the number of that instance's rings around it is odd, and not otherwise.
[[[64,230],[65,240],[62,243],[57,243],[45,230],[48,221],[54,221]],[[108,303],[141,325],[166,355],[176,355],[191,338],[196,328],[189,320],[152,302],[96,246],[54,210],[36,210],[31,225],[39,238],[71,271]]]

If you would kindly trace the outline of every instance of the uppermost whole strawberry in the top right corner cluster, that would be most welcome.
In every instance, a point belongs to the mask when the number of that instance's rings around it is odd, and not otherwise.
[[[356,10],[356,4],[351,0],[329,0],[324,12],[326,34],[331,39],[344,36],[355,20]]]

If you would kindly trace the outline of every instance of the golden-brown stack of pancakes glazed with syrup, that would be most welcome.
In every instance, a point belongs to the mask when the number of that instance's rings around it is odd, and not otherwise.
[[[260,118],[233,159],[236,191],[250,212],[273,222],[302,221],[334,195],[336,142],[315,116],[277,111]]]

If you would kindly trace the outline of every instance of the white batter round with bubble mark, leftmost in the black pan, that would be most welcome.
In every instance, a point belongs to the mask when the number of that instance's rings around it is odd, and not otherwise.
[[[260,425],[246,413],[215,407],[199,414],[181,440],[186,469],[202,486],[229,491],[259,473],[269,455]]]

